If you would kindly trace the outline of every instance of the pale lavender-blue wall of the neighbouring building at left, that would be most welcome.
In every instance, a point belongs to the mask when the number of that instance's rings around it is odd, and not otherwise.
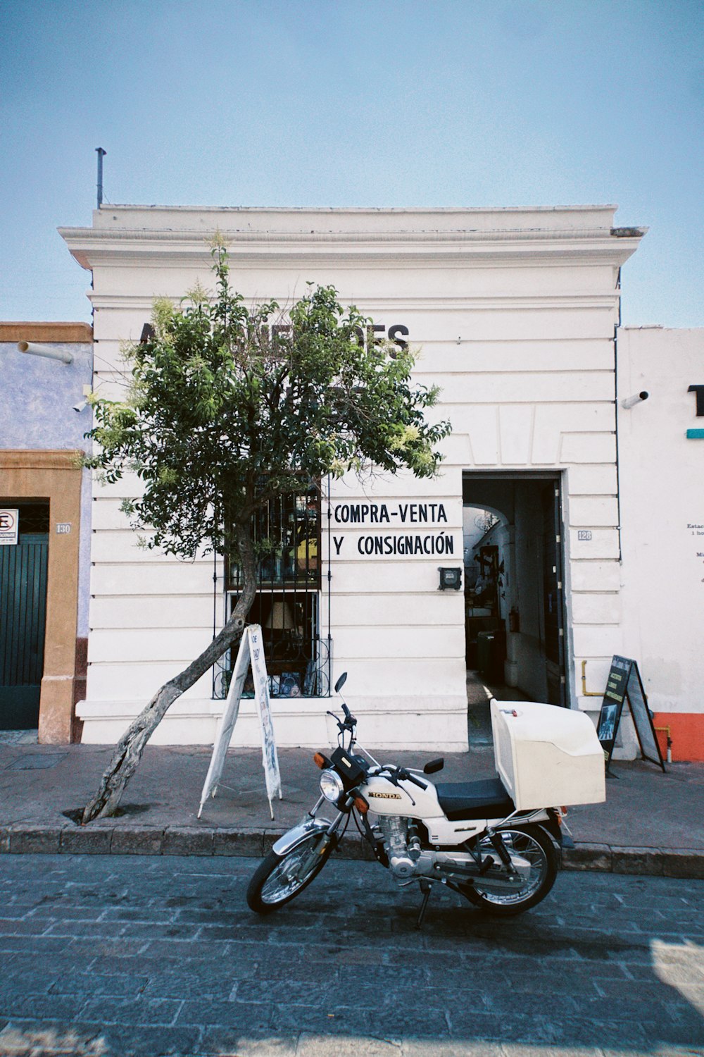
[[[91,409],[80,413],[73,405],[83,398],[83,386],[93,376],[93,346],[90,342],[45,342],[70,352],[73,364],[61,364],[21,353],[14,341],[0,341],[0,448],[22,450],[88,450],[83,433],[91,428]],[[2,485],[0,483],[0,493]],[[80,556],[78,572],[78,635],[88,635],[88,604],[91,571],[91,483],[83,470],[80,511]]]

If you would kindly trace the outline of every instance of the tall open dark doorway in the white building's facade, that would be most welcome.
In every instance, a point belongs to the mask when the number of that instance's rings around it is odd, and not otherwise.
[[[476,741],[487,736],[491,697],[567,704],[559,476],[465,471],[462,504]]]

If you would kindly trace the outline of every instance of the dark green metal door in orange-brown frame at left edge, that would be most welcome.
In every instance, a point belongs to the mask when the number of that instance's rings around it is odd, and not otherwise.
[[[19,540],[0,546],[0,729],[39,722],[44,667],[49,505],[16,504]]]

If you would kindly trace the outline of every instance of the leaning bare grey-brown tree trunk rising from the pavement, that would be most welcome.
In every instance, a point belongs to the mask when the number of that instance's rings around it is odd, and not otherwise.
[[[229,646],[242,638],[245,617],[251,609],[256,591],[256,563],[254,550],[247,528],[235,526],[235,539],[240,549],[240,563],[243,572],[243,589],[230,619],[220,634],[188,668],[174,675],[161,686],[149,704],[142,708],[130,724],[115,746],[108,769],[100,779],[100,785],[83,810],[81,824],[95,818],[114,815],[125,787],[137,769],[141,754],[152,734],[166,716],[169,707],[185,690],[193,686]]]

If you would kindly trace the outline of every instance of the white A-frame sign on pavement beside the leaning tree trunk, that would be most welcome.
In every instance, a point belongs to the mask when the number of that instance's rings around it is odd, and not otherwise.
[[[264,645],[262,643],[262,629],[259,624],[252,624],[245,628],[245,632],[240,643],[237,660],[232,671],[230,689],[225,702],[225,710],[220,721],[215,742],[213,744],[210,766],[206,775],[203,793],[201,794],[201,806],[198,808],[198,818],[203,806],[209,796],[214,796],[217,792],[225,766],[225,757],[232,738],[234,724],[237,722],[240,712],[240,701],[244,689],[245,680],[249,666],[251,665],[254,679],[254,700],[256,701],[256,711],[259,712],[260,726],[262,728],[262,764],[264,766],[264,778],[266,780],[266,795],[269,800],[269,811],[273,818],[273,798],[279,794],[279,799],[283,798],[281,792],[281,774],[279,772],[279,756],[277,755],[277,742],[273,737],[273,724],[271,723],[271,704],[269,702],[269,676],[266,671],[264,661]]]

